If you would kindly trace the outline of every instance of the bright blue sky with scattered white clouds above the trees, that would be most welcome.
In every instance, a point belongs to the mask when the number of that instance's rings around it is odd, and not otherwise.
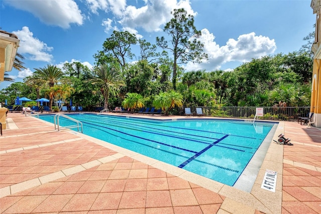
[[[184,8],[209,59],[187,64],[186,71],[231,70],[253,58],[298,51],[314,31],[310,0],[0,0],[0,27],[21,40],[18,52],[27,68],[9,72],[16,82],[48,64],[81,62],[92,68],[93,55],[113,30],[129,31],[155,44],[171,11]],[[137,46],[138,47],[138,46]],[[133,52],[138,50],[133,47]],[[135,53],[139,56],[139,52]],[[0,83],[0,89],[10,82]]]

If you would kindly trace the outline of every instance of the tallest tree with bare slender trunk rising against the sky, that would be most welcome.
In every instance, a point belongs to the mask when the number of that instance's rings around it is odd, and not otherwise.
[[[203,53],[204,45],[197,40],[202,33],[194,26],[194,17],[184,9],[174,9],[174,18],[165,25],[164,32],[170,35],[171,45],[164,37],[156,38],[156,44],[173,53],[173,88],[176,90],[177,64],[193,61],[200,63],[208,56]]]

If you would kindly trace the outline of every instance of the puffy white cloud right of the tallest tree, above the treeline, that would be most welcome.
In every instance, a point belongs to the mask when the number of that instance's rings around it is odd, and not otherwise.
[[[213,71],[220,69],[227,62],[249,62],[253,58],[274,53],[276,45],[274,39],[264,36],[256,36],[255,33],[240,35],[237,40],[229,39],[225,46],[219,46],[214,40],[215,36],[207,29],[202,30],[199,39],[204,44],[204,52],[208,54],[208,60],[201,64],[188,63],[186,70]]]

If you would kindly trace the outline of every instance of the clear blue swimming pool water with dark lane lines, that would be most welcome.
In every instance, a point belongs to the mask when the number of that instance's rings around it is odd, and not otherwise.
[[[233,186],[273,123],[69,114],[83,133]],[[53,115],[40,118],[54,122]],[[74,124],[60,117],[60,125]],[[76,130],[76,129],[75,129]]]

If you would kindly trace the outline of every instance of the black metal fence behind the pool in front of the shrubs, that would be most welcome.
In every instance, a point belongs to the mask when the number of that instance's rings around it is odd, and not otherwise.
[[[263,108],[263,117],[258,117],[259,120],[285,120],[294,121],[298,117],[306,117],[310,112],[310,107],[207,107],[193,106],[192,113],[196,113],[196,108],[202,108],[202,112],[206,116],[224,117],[224,118],[244,118],[254,119],[256,108]],[[184,115],[185,108],[174,108],[170,111],[172,115]]]

